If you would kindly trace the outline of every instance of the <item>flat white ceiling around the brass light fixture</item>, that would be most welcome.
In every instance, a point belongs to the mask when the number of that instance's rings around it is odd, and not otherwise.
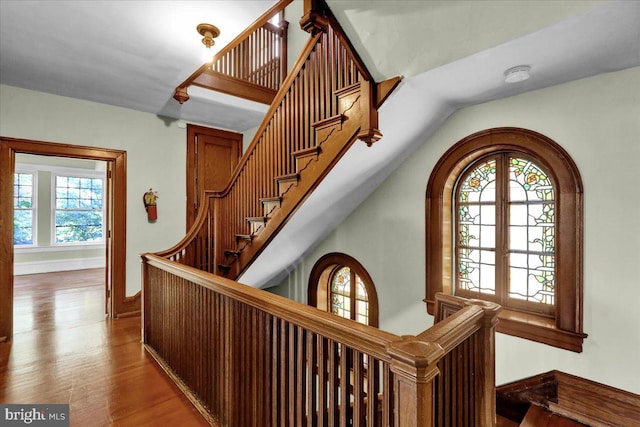
[[[201,22],[219,49],[271,7],[242,1],[0,1],[0,83],[242,131],[266,107],[173,91],[202,65]]]

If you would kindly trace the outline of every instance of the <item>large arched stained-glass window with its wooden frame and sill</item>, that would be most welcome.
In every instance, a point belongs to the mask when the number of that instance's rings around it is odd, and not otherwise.
[[[489,129],[427,186],[427,310],[436,292],[501,304],[497,330],[582,351],[582,182],[558,144]]]

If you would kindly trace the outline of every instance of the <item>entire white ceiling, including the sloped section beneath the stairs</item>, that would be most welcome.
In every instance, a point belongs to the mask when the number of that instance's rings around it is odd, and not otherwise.
[[[383,139],[347,153],[243,276],[255,286],[277,283],[455,109],[640,65],[640,1],[327,2],[377,80],[405,79],[380,111]],[[0,0],[0,83],[244,131],[265,108],[180,106],[173,91],[201,65],[198,23],[221,28],[219,48],[273,3]],[[301,0],[290,9],[295,45]],[[506,84],[521,64],[531,78]]]

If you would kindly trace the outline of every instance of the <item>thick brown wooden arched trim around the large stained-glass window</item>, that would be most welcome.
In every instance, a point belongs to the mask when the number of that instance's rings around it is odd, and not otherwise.
[[[492,153],[511,151],[536,160],[556,184],[556,309],[553,318],[505,308],[498,332],[576,352],[586,334],[583,319],[582,179],[569,154],[553,140],[521,128],[494,128],[451,147],[434,167],[426,194],[426,298],[433,314],[436,292],[452,292],[454,187],[468,165]]]

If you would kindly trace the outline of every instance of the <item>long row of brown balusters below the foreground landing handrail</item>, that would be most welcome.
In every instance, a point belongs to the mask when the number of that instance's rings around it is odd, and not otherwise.
[[[389,361],[147,265],[144,342],[233,426],[391,426]]]

